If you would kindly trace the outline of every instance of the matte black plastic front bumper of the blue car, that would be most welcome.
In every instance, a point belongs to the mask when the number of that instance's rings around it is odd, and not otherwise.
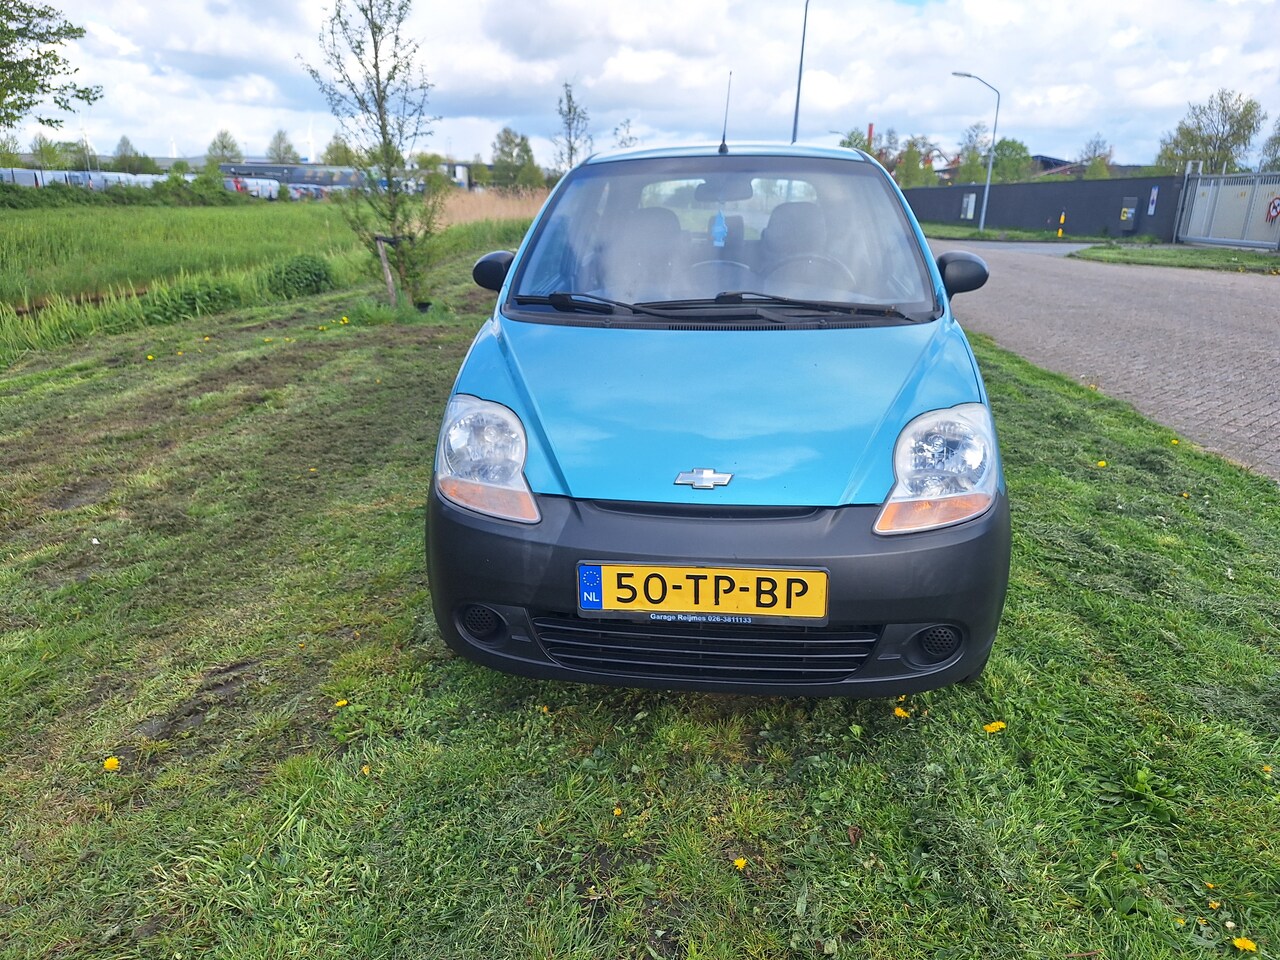
[[[982,669],[1009,581],[1009,503],[945,530],[877,536],[879,507],[698,508],[540,497],[539,524],[428,507],[445,641],[522,676],[678,690],[896,696]],[[580,561],[819,567],[826,626],[577,613]]]

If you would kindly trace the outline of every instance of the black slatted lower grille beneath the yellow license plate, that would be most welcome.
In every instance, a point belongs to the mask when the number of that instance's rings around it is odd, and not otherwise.
[[[535,617],[547,655],[616,677],[744,684],[833,684],[851,677],[879,639],[876,627],[623,623]]]

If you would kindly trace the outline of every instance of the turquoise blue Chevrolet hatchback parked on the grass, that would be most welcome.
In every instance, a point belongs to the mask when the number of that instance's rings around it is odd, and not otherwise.
[[[799,146],[593,156],[444,412],[436,622],[511,673],[891,696],[970,680],[1009,580],[982,376],[893,180]]]

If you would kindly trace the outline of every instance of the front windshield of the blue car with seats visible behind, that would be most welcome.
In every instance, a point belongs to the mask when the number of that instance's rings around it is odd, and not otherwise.
[[[858,159],[812,156],[585,164],[543,216],[512,292],[517,303],[571,293],[694,306],[750,292],[763,294],[751,302],[920,317],[934,308],[919,244],[884,174]]]

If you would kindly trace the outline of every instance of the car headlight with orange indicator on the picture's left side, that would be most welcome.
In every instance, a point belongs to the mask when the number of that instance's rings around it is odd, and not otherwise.
[[[460,507],[492,517],[541,520],[525,483],[525,426],[500,403],[456,394],[440,424],[435,488]]]

